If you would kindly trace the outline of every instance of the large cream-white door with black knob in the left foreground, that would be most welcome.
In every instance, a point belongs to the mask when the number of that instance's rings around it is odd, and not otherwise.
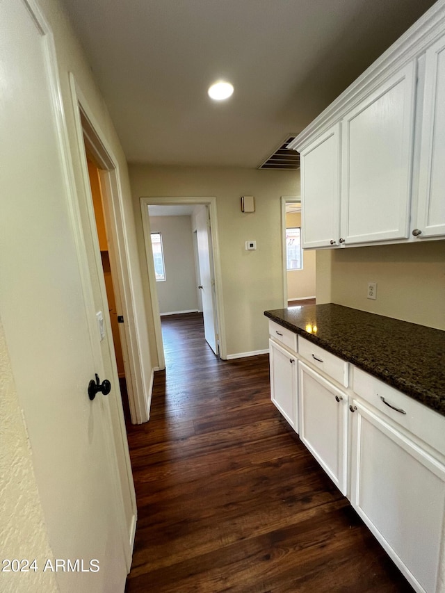
[[[58,571],[60,591],[122,592],[128,542],[108,401],[87,394],[101,372],[99,336],[83,292],[51,36],[33,6],[0,2],[0,315],[51,549],[84,569],[99,561],[96,572]]]

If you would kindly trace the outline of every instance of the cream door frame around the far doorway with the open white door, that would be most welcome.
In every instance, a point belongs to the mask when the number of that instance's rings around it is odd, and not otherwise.
[[[220,266],[220,247],[218,237],[218,218],[216,214],[216,197],[140,197],[140,211],[142,215],[145,257],[147,259],[148,281],[150,297],[152,300],[152,312],[154,320],[154,336],[156,340],[156,350],[158,352],[159,369],[165,368],[165,357],[163,350],[163,339],[161,330],[161,314],[159,312],[158,295],[156,293],[156,277],[154,274],[154,263],[152,255],[152,242],[150,240],[150,220],[148,206],[178,206],[188,204],[195,206],[209,206],[210,228],[211,228],[211,247],[213,251],[213,266],[215,273],[215,293],[216,293],[216,316],[218,320],[218,332],[220,342],[220,358],[227,360],[227,346],[225,339],[225,320],[223,307],[223,281]]]

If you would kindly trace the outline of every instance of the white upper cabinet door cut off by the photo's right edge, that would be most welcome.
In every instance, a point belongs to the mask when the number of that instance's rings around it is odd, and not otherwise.
[[[418,238],[445,235],[445,36],[426,52]],[[414,230],[414,229],[413,229]]]

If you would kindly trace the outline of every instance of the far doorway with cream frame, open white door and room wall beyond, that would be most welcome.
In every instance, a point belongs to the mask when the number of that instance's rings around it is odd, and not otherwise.
[[[143,197],[140,202],[159,368],[165,368],[161,319],[171,315],[202,316],[205,341],[214,355],[224,358],[216,200]],[[155,269],[161,261],[159,245],[165,262],[162,276]]]

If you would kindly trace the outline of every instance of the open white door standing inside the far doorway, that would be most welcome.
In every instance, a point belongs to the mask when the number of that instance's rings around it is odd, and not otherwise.
[[[219,354],[218,323],[215,307],[215,278],[213,274],[213,251],[211,247],[211,230],[207,206],[201,206],[197,211],[197,254],[200,267],[200,292],[202,299],[202,314],[204,316],[204,336],[210,348]]]

